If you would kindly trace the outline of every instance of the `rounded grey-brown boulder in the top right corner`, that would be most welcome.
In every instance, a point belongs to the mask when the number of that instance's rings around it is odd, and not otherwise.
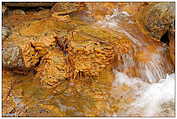
[[[150,4],[143,14],[145,29],[152,37],[160,40],[175,20],[175,3]]]

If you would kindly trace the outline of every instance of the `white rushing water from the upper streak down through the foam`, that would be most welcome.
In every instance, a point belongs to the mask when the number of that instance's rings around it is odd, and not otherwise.
[[[134,44],[134,52],[121,56],[123,66],[115,69],[113,86],[131,87],[135,100],[127,105],[126,111],[114,116],[175,116],[175,73],[166,55],[167,48],[164,44],[150,41],[137,29],[130,16],[126,11],[114,9],[112,15],[97,22],[102,27],[124,33]],[[123,72],[132,66],[136,67],[137,77],[129,77],[128,73]]]

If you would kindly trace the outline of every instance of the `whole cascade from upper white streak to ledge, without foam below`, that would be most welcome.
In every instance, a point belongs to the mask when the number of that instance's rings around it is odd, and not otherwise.
[[[142,80],[147,81],[149,83],[155,83],[158,80],[165,78],[166,73],[172,70],[170,62],[168,62],[168,57],[166,56],[166,49],[154,46],[151,47],[153,44],[153,40],[149,43],[147,38],[144,37],[144,34],[141,32],[133,31],[132,27],[138,27],[134,22],[131,20],[131,15],[125,11],[120,11],[119,9],[113,9],[112,15],[106,15],[105,19],[102,21],[98,21],[97,24],[101,25],[102,27],[111,28],[118,32],[124,33],[129,40],[133,44],[133,48],[126,54],[119,55],[119,60],[122,60],[121,64],[117,67],[118,71],[132,73],[131,71],[134,68],[134,75],[139,76]],[[134,26],[132,26],[134,24]],[[126,28],[124,28],[126,26]],[[127,28],[130,28],[128,30]],[[141,33],[138,34],[138,33]],[[140,37],[142,36],[142,37]],[[150,48],[149,48],[150,47]],[[154,50],[152,52],[151,50]],[[145,59],[149,59],[148,61],[140,61],[135,58],[135,56],[142,52],[145,54]],[[147,54],[147,56],[146,56]],[[131,76],[131,74],[129,74]]]

